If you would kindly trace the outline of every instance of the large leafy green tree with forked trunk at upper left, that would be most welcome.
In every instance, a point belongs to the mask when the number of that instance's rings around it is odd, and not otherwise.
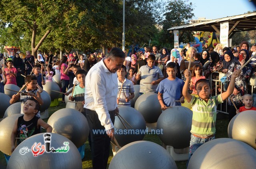
[[[32,55],[36,55],[53,30],[79,25],[95,5],[92,0],[1,0],[0,22],[12,29],[23,29],[25,23],[23,35],[30,37]]]

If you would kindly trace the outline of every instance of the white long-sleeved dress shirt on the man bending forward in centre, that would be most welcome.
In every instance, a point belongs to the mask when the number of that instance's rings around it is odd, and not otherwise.
[[[86,75],[84,108],[96,111],[101,125],[110,130],[114,125],[108,112],[116,109],[118,84],[116,73],[107,69],[105,59],[96,63]]]

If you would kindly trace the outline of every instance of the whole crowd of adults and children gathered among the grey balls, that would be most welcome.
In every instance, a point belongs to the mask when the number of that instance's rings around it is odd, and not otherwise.
[[[131,106],[134,85],[140,85],[140,95],[147,92],[157,93],[162,110],[170,106],[181,106],[184,99],[192,104],[191,156],[200,146],[198,143],[215,138],[215,125],[212,124],[216,122],[216,106],[219,103],[227,99],[230,120],[241,111],[255,110],[253,105],[256,106],[256,97],[252,97],[250,92],[255,93],[256,88],[253,91],[248,90],[248,82],[255,75],[256,59],[246,63],[255,53],[256,44],[250,48],[246,41],[241,43],[239,49],[223,47],[222,44],[215,48],[205,45],[202,53],[198,53],[190,43],[185,49],[174,48],[170,52],[165,47],[159,52],[153,46],[130,52],[128,55],[126,51],[115,47],[109,51],[107,57],[103,53],[95,52],[86,57],[74,52],[64,54],[58,59],[54,55],[43,56],[42,53],[34,57],[27,51],[24,60],[16,53],[13,60],[4,61],[5,66],[1,69],[4,81],[1,85],[14,84],[21,87],[26,83],[27,88],[22,90],[23,94],[14,94],[10,104],[20,100],[23,111],[28,112],[26,102],[32,102],[33,106],[42,104],[40,92],[43,85],[52,81],[53,75],[60,74],[62,102],[65,102],[65,95],[71,93],[67,89],[73,86],[74,94],[69,99],[82,102],[80,105],[76,103],[76,109],[88,119],[93,167],[106,168],[110,140],[114,139],[114,116],[119,112],[118,106]],[[245,67],[241,69],[243,65]],[[213,72],[226,74],[220,94],[212,93],[211,90],[212,84],[208,79],[212,78]],[[25,80],[22,80],[22,75],[25,75]],[[199,98],[193,94],[197,94]],[[36,101],[29,100],[30,98]],[[205,106],[208,106],[207,110]],[[202,109],[199,110],[198,107]],[[38,110],[33,110],[38,116]],[[199,116],[202,111],[209,115],[207,119]],[[34,116],[24,116],[24,120],[25,118],[34,119]],[[21,120],[16,123],[21,123]],[[41,121],[38,125],[52,130]],[[98,135],[93,130],[106,132]],[[16,134],[15,132],[14,135]]]

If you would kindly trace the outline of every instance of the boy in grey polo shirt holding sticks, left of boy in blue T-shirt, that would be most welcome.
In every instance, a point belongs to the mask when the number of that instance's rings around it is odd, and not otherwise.
[[[140,80],[140,94],[147,92],[155,92],[160,81],[164,80],[164,76],[159,67],[155,66],[155,55],[149,55],[147,65],[140,67],[135,81]]]

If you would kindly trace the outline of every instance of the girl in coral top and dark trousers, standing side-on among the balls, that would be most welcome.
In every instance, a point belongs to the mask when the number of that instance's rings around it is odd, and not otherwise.
[[[68,76],[68,69],[70,68],[70,64],[66,64],[66,61],[68,60],[67,57],[63,56],[60,60],[60,80],[61,80],[61,86],[62,86],[62,92],[66,93],[66,89],[69,85],[69,76]],[[65,103],[65,94],[62,94],[62,103]]]

